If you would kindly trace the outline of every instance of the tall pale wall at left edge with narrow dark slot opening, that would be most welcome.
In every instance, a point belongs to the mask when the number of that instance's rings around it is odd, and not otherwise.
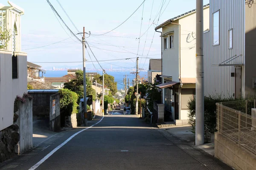
[[[18,78],[12,79],[12,52],[0,50],[0,130],[13,124],[15,98],[27,92],[27,55],[16,54]]]

